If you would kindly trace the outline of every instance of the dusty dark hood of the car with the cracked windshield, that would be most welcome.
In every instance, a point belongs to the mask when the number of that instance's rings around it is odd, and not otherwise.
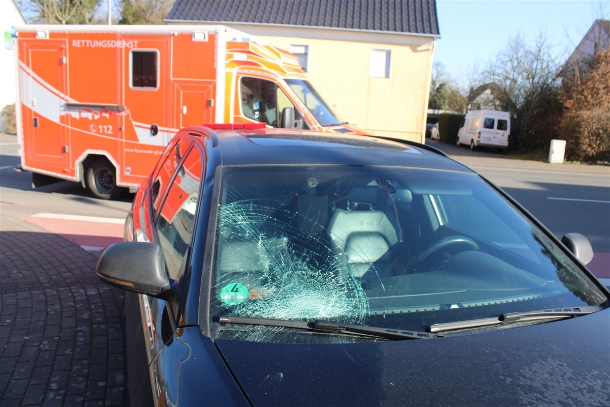
[[[254,406],[573,406],[610,400],[609,337],[606,309],[436,339],[216,343]]]

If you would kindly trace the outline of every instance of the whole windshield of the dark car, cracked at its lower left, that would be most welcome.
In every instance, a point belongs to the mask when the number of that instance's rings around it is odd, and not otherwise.
[[[544,232],[474,175],[226,167],[220,185],[212,321],[232,315],[429,331],[607,300]],[[213,324],[212,335],[346,340],[231,324]]]

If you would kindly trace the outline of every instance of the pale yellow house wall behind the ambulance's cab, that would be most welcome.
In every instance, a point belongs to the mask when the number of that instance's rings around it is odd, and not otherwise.
[[[257,35],[274,46],[307,45],[307,76],[343,120],[375,134],[424,142],[434,40],[406,45]],[[370,77],[371,49],[389,49],[390,77]]]

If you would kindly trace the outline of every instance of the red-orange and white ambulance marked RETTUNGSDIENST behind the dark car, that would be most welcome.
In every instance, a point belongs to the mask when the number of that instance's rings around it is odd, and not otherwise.
[[[13,30],[21,168],[32,186],[137,190],[179,129],[206,123],[367,134],[343,122],[298,58],[226,26]]]

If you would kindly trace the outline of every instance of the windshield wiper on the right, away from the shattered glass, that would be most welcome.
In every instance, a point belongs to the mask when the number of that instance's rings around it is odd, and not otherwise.
[[[581,315],[587,315],[591,314],[592,312],[601,311],[601,309],[602,308],[598,305],[590,305],[573,308],[542,309],[540,311],[507,312],[506,314],[501,314],[497,318],[481,318],[467,321],[435,323],[434,325],[430,325],[430,332],[436,333],[441,331],[479,328],[480,326],[499,325],[501,323],[509,322],[525,322],[541,319],[564,319],[580,317]]]

